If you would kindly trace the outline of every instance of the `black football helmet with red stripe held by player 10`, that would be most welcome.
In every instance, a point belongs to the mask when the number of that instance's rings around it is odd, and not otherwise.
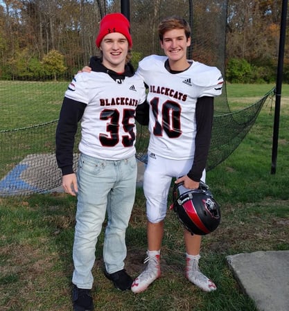
[[[200,181],[198,189],[179,194],[179,187],[184,183],[175,184],[173,188],[173,209],[179,221],[192,234],[205,236],[217,229],[220,224],[220,206],[213,199],[209,187]]]

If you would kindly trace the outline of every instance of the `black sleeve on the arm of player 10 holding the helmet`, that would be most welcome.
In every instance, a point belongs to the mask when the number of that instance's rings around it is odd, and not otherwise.
[[[200,181],[202,171],[206,167],[211,143],[211,130],[213,126],[213,97],[204,96],[197,100],[195,107],[195,121],[197,134],[195,136],[195,155],[193,166],[188,177],[193,181]]]

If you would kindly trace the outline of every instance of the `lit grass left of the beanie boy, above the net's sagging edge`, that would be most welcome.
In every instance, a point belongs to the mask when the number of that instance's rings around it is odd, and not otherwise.
[[[0,130],[56,120],[69,82],[0,81]]]

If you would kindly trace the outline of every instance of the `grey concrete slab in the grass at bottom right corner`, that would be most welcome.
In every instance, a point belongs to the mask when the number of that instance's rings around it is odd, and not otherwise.
[[[289,311],[289,251],[256,251],[226,259],[258,310]]]

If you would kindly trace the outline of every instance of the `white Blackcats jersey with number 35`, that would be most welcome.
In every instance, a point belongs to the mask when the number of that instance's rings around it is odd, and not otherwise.
[[[107,160],[134,155],[135,109],[146,100],[141,78],[125,77],[119,83],[107,73],[78,73],[65,97],[87,104],[81,119],[80,152]]]

